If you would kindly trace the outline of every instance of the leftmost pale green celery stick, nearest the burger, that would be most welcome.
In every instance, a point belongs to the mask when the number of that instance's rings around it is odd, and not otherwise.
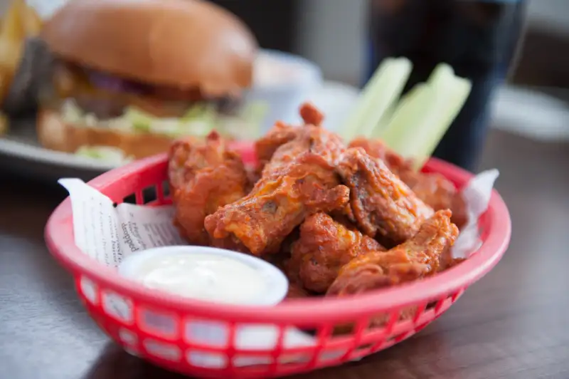
[[[385,110],[398,100],[412,66],[407,58],[387,58],[381,63],[363,88],[353,113],[340,129],[344,140],[373,133]]]

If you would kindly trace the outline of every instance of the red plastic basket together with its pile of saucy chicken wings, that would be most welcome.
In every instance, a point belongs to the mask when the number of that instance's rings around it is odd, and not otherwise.
[[[312,105],[302,105],[300,114],[303,125],[276,123],[252,143],[215,132],[178,140],[168,155],[88,183],[116,209],[128,206],[125,214],[170,209],[164,230],[174,230],[181,245],[236,251],[276,266],[288,282],[277,304],[149,289],[80,248],[78,233],[85,231],[73,223],[85,211],[73,194],[55,210],[46,228],[50,250],[73,273],[90,316],[127,351],[218,378],[339,365],[413,336],[499,261],[510,220],[495,190],[476,214],[472,202],[481,197],[466,194],[474,180],[469,172],[435,159],[415,171],[381,141],[344,142],[322,126]],[[150,201],[143,193],[149,187]],[[121,204],[132,194],[136,205]],[[122,229],[119,222],[116,238],[126,235]],[[141,222],[142,229],[151,228]],[[479,239],[467,254],[454,249],[463,233]]]

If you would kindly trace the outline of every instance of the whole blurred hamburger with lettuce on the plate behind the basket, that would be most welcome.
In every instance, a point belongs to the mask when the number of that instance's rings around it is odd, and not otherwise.
[[[41,85],[44,147],[140,158],[216,129],[255,137],[262,105],[244,104],[257,41],[242,21],[201,0],[73,0],[41,33],[53,54]]]

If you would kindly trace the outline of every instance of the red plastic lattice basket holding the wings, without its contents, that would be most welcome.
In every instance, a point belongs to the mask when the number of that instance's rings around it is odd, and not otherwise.
[[[254,160],[250,144],[237,148],[244,160]],[[142,204],[142,191],[156,188],[156,203],[164,196],[166,155],[149,157],[107,172],[89,184],[114,202],[135,194]],[[456,185],[464,185],[472,174],[432,159],[426,171],[440,172]],[[130,353],[169,370],[211,378],[270,378],[301,373],[381,351],[425,328],[444,313],[467,287],[489,272],[506,250],[511,232],[508,209],[494,191],[489,209],[479,226],[484,244],[467,261],[441,274],[393,289],[351,298],[312,298],[285,301],[270,308],[218,305],[170,296],[127,281],[115,269],[83,254],[74,243],[70,199],[59,205],[46,226],[46,242],[52,254],[75,277],[78,294],[90,316],[111,338]],[[107,306],[118,298],[131,311],[121,313]],[[415,306],[412,318],[400,321],[403,308]],[[388,322],[368,328],[373,316],[385,313]],[[152,320],[160,319],[157,327]],[[186,333],[191,326],[206,322],[223,328],[225,343],[211,346]],[[353,323],[348,335],[333,335],[334,326]],[[262,324],[274,338],[270,348],[245,349],[238,346],[244,327]],[[314,343],[289,347],[287,333],[295,328],[311,331]],[[166,330],[167,329],[167,330]],[[266,336],[264,337],[266,338]],[[196,357],[201,357],[196,363]],[[203,364],[208,358],[208,365]],[[259,358],[255,365],[240,365],[243,359]]]

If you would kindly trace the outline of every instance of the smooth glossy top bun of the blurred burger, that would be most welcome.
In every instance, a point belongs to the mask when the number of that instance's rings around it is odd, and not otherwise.
[[[257,52],[242,21],[201,0],[72,0],[41,36],[67,61],[212,96],[250,86]]]

